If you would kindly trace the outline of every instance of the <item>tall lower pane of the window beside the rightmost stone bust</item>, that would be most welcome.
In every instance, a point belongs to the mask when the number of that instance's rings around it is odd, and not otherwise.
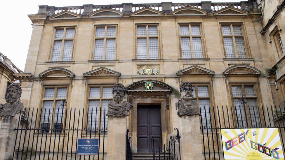
[[[198,91],[199,91],[199,89],[198,89]],[[199,106],[200,106],[200,110],[201,110],[203,128],[211,128],[209,100],[208,99],[199,99]]]

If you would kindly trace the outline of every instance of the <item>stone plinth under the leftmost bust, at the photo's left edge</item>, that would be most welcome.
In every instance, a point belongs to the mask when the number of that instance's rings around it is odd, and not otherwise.
[[[0,155],[3,160],[10,160],[13,157],[16,131],[14,130],[19,122],[20,113],[15,117],[0,116]]]

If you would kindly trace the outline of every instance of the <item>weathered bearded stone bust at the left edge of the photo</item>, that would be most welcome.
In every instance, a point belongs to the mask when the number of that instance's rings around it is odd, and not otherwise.
[[[8,88],[6,95],[6,103],[4,104],[2,110],[0,110],[0,116],[11,116],[14,117],[17,113],[24,110],[24,105],[20,102],[20,97],[22,94],[22,89],[17,84],[12,84]]]

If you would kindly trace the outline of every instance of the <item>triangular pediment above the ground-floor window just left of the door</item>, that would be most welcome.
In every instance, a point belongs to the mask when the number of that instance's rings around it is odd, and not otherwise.
[[[108,69],[105,67],[100,67],[97,69],[94,69],[92,71],[83,73],[84,77],[97,77],[97,76],[120,76],[121,73],[117,71],[113,71],[112,69]]]

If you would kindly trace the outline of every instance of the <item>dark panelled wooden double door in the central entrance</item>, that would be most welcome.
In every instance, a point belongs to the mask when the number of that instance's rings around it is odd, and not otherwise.
[[[160,106],[138,106],[138,153],[151,153],[154,137],[154,149],[161,149],[161,108]]]

